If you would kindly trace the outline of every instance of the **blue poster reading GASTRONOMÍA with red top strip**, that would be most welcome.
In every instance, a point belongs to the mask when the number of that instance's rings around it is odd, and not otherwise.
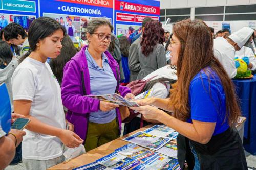
[[[112,22],[113,1],[40,0],[40,15],[57,20],[76,42],[75,37],[86,40],[85,31],[91,19],[105,17]]]

